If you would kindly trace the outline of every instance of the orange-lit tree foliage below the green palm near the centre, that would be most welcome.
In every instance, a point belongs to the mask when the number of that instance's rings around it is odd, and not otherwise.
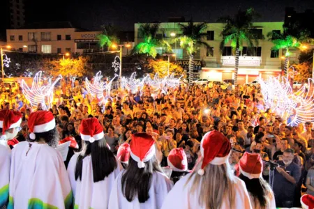
[[[149,59],[149,63],[147,65],[147,68],[151,69],[151,76],[154,77],[156,73],[158,73],[159,77],[165,77],[167,76],[168,72],[168,64],[169,64],[169,74],[172,74],[174,72],[174,75],[177,77],[180,77],[181,75],[184,75],[184,69],[177,65],[176,63],[168,63],[168,61],[164,61],[162,59]]]

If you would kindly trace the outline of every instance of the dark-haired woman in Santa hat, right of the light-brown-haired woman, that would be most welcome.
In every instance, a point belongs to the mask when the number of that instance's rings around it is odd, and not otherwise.
[[[239,161],[239,178],[246,183],[252,208],[276,208],[274,193],[269,184],[262,178],[262,167],[260,155],[244,153]]]

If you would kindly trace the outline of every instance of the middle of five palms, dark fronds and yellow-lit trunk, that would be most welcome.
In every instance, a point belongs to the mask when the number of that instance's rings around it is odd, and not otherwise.
[[[188,61],[188,85],[190,86],[193,82],[193,68],[194,68],[194,54],[199,49],[197,46],[204,45],[209,47],[207,42],[202,41],[204,36],[207,36],[207,33],[203,33],[207,28],[207,24],[202,22],[199,24],[194,24],[192,20],[188,24],[180,24],[182,31],[182,36],[180,39],[180,47],[187,50],[189,55]]]

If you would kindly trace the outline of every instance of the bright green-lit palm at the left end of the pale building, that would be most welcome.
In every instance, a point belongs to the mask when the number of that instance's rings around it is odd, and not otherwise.
[[[166,52],[172,51],[170,44],[166,40],[156,37],[159,26],[159,23],[140,25],[138,36],[144,38],[144,40],[135,46],[135,53],[147,54],[155,58],[157,55],[156,47],[163,47]]]

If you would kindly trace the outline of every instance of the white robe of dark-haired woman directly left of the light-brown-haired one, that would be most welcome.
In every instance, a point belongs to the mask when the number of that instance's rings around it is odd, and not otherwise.
[[[151,176],[151,187],[149,188],[149,199],[140,203],[135,196],[133,201],[129,202],[121,190],[121,177],[124,172],[121,172],[114,182],[114,187],[112,187],[109,208],[114,209],[156,209],[161,208],[163,201],[167,196],[170,189],[172,189],[173,184],[167,176],[163,173],[154,172]]]

